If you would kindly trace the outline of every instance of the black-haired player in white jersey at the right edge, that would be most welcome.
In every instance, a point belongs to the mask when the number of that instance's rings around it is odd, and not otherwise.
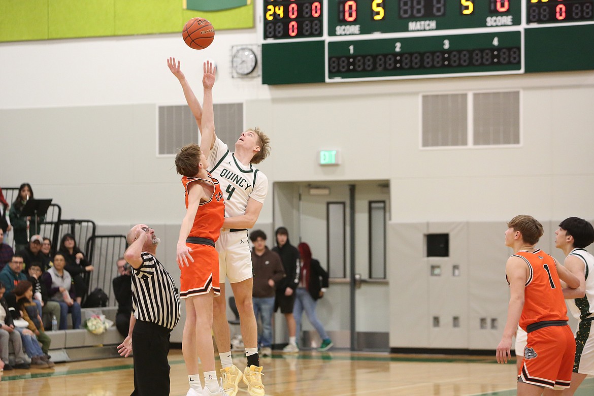
[[[565,268],[580,280],[577,289],[563,288],[563,295],[579,327],[576,336],[576,359],[571,386],[561,393],[573,395],[587,375],[594,375],[594,256],[584,250],[594,242],[594,227],[579,217],[561,221],[555,231],[555,246],[565,254]]]

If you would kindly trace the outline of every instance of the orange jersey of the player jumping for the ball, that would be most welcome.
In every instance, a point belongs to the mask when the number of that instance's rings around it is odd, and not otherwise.
[[[185,188],[186,209],[188,208],[188,190],[190,183],[210,183],[214,186],[214,192],[210,199],[200,203],[189,236],[208,238],[216,242],[216,240],[219,239],[220,230],[225,219],[225,201],[223,201],[223,194],[219,186],[219,180],[213,179],[213,177],[210,176],[210,173],[208,173],[208,178],[210,178],[210,180],[187,178],[184,176],[182,177],[182,183],[184,183]]]

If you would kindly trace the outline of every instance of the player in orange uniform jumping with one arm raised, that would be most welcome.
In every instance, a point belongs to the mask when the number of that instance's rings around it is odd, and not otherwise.
[[[212,87],[214,66],[204,62],[204,112],[198,126],[214,131]],[[208,134],[210,136],[210,134]],[[225,217],[225,201],[219,181],[207,172],[210,141],[185,145],[175,157],[175,166],[185,189],[186,216],[179,230],[177,261],[181,270],[180,295],[185,299],[186,320],[182,351],[188,370],[188,396],[227,396],[214,370],[213,297],[220,295],[219,254],[214,242],[219,239]],[[198,374],[198,357],[204,371],[204,390]]]

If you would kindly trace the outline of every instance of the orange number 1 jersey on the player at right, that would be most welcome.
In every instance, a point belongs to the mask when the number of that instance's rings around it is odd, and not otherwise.
[[[524,289],[520,327],[526,330],[527,325],[536,322],[567,321],[567,306],[557,274],[557,261],[541,249],[520,251],[513,256],[524,259],[530,269]]]

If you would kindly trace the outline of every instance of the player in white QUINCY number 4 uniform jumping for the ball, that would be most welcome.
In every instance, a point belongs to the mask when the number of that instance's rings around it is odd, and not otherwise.
[[[185,99],[197,124],[201,125],[202,107],[181,72],[179,62],[169,58],[168,66],[182,85]],[[201,134],[203,132],[208,133],[200,131]],[[252,306],[252,262],[247,229],[252,228],[258,220],[268,194],[266,175],[252,164],[258,164],[268,156],[270,140],[258,128],[248,129],[239,135],[235,142],[235,153],[231,153],[227,145],[216,137],[215,132],[211,133],[214,136],[208,139],[213,142],[208,157],[208,163],[211,164],[209,172],[213,178],[219,180],[225,198],[225,222],[216,242],[221,294],[213,303],[213,330],[223,367],[223,389],[229,396],[235,396],[243,378],[251,396],[264,396],[262,366],[258,356],[258,330]],[[248,359],[243,373],[233,365],[231,358],[230,331],[226,316],[226,278],[229,279],[237,303],[241,335]]]

